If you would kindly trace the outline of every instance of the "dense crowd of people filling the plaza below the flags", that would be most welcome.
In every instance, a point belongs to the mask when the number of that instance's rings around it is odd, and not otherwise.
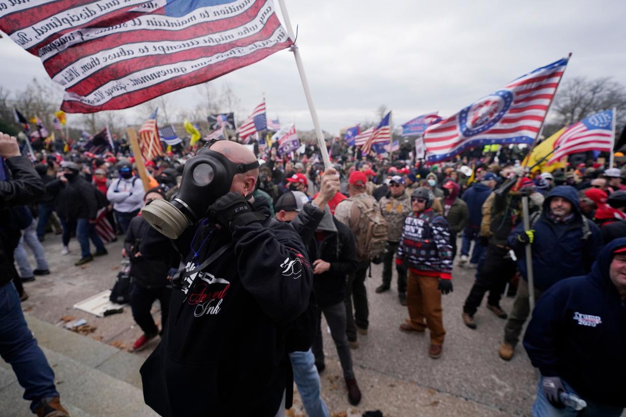
[[[31,163],[16,149],[0,134],[0,291],[24,300],[22,283],[50,273],[40,243],[48,233],[62,235],[68,257],[76,237],[76,266],[113,256],[105,243],[124,239],[131,309],[143,330],[133,349],[161,337],[141,368],[145,401],[161,415],[284,415],[294,381],[307,414],[328,416],[322,314],[349,402],[359,404],[351,350],[369,328],[372,263],[382,263],[376,293],[391,289],[395,271],[407,308],[398,329],[428,329],[430,358],[444,353],[441,296],[453,291],[456,262],[475,270],[458,319],[479,331],[488,292],[486,308],[506,320],[500,358],[510,360],[522,338],[540,370],[533,415],[575,415],[585,403],[585,415],[619,416],[626,406],[626,369],[615,361],[626,351],[626,170],[590,160],[541,172],[520,163],[516,146],[429,164],[407,149],[393,160],[362,156],[342,141],[329,145],[325,168],[312,144],[279,156],[276,146],[210,141],[196,156],[180,149],[146,161],[146,190],[128,152],[42,151]],[[169,224],[166,212],[185,221]],[[156,227],[155,216],[180,228],[177,236]],[[505,294],[515,296],[508,313]],[[160,329],[150,314],[157,299]],[[14,365],[31,409],[68,415],[19,302],[3,314],[21,332],[0,329],[10,342],[0,349],[11,351],[3,358],[23,358],[17,343],[34,352],[28,366]],[[33,367],[43,370],[33,376]]]

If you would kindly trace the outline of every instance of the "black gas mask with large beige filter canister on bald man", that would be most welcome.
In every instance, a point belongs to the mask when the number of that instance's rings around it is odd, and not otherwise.
[[[209,141],[183,169],[180,191],[172,201],[155,200],[146,206],[141,216],[170,239],[177,239],[198,220],[207,217],[208,206],[230,191],[236,174],[259,168],[259,161],[235,164],[223,154],[210,150]]]

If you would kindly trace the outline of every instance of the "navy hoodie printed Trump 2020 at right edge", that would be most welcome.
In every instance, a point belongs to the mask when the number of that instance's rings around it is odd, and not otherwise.
[[[564,279],[536,304],[524,348],[543,376],[560,376],[584,398],[626,407],[626,301],[610,280],[607,244],[591,273]]]

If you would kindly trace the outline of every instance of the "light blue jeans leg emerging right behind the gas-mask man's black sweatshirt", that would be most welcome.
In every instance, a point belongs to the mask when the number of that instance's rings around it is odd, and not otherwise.
[[[328,417],[328,409],[320,396],[321,383],[315,367],[315,356],[311,349],[306,352],[292,352],[289,354],[291,365],[294,368],[294,381],[298,387],[302,404],[309,417]]]

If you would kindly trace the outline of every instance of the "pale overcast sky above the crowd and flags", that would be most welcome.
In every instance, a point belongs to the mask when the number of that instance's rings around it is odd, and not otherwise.
[[[294,30],[299,24],[297,43],[322,129],[331,133],[374,121],[381,104],[393,110],[396,125],[430,111],[456,113],[569,52],[565,79],[608,76],[626,84],[626,2],[620,0],[285,3]],[[6,36],[0,39],[0,56],[5,88],[47,77],[39,59]],[[312,128],[289,51],[212,83],[223,81],[241,100],[237,119],[265,94],[269,118]],[[168,96],[177,109],[193,108],[200,100],[195,87]],[[125,112],[135,121],[134,111]]]

